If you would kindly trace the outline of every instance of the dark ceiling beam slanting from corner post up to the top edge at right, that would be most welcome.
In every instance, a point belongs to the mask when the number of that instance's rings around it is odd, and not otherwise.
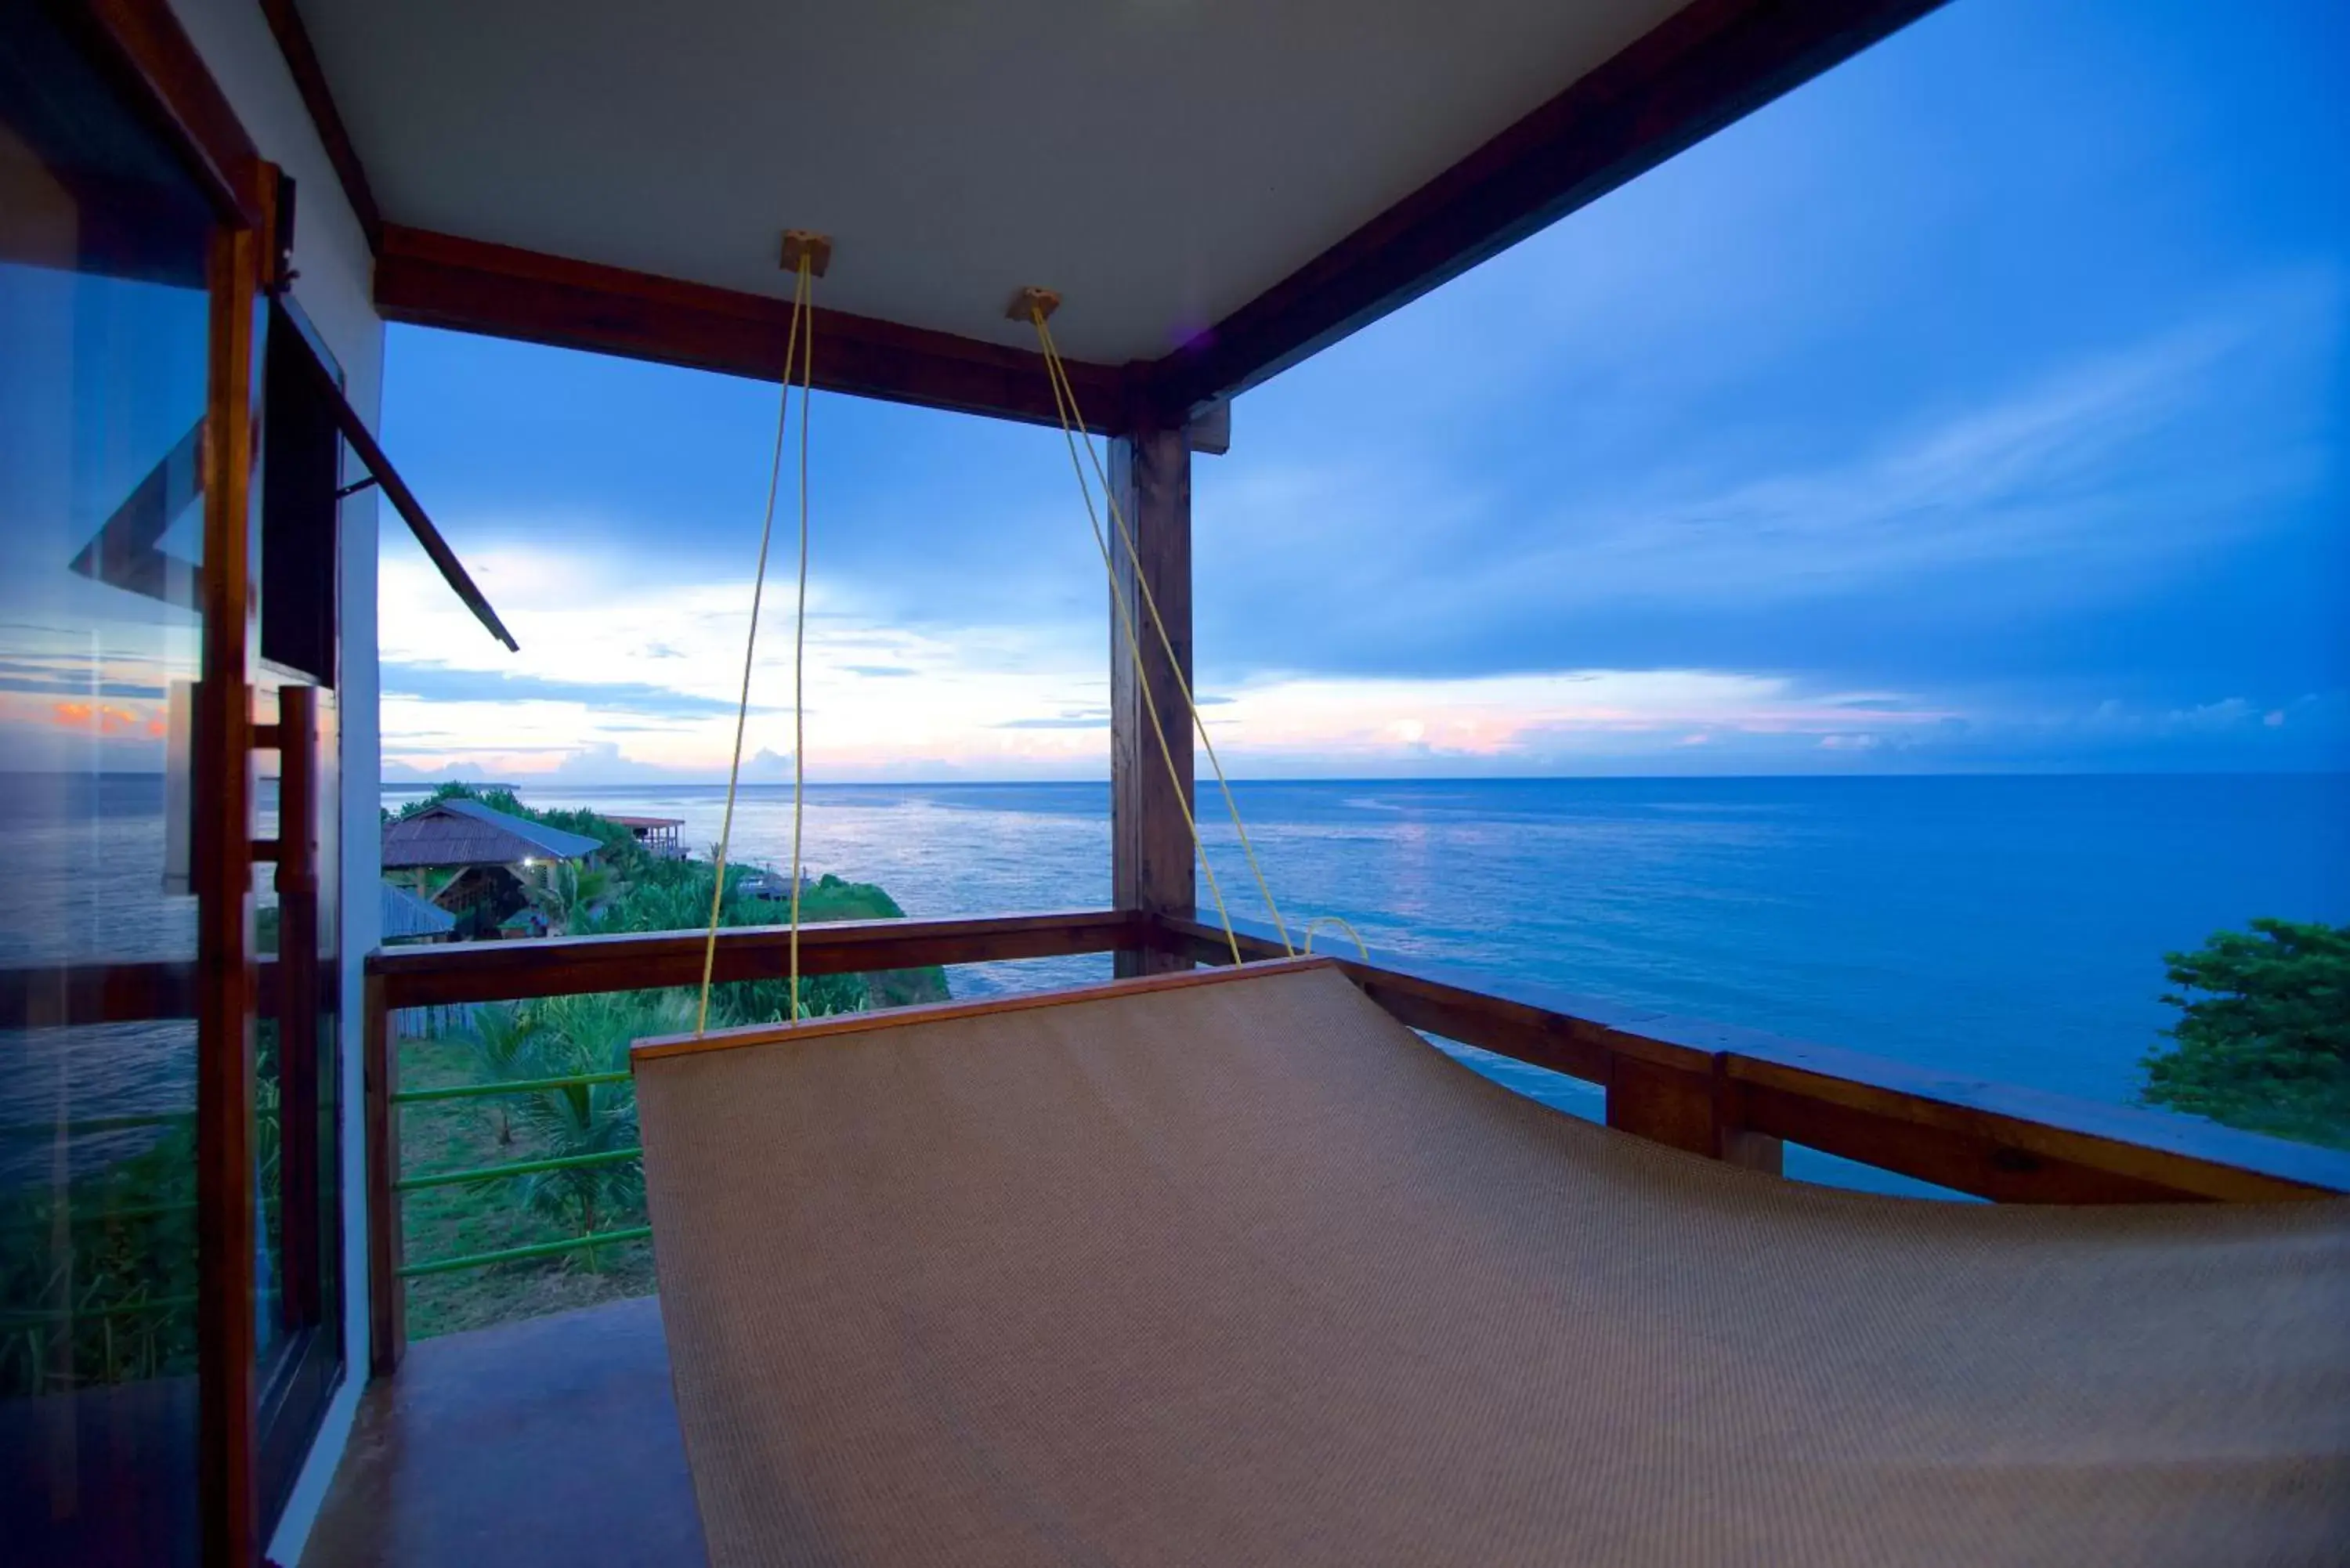
[[[1156,360],[1161,416],[1276,376],[1704,141],[1943,0],[1694,0],[1629,49]]]

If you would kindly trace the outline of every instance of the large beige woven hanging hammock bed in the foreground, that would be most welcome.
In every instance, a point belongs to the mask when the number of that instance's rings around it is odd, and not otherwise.
[[[2345,1201],[1805,1187],[1332,969],[637,1095],[719,1568],[2350,1561]]]

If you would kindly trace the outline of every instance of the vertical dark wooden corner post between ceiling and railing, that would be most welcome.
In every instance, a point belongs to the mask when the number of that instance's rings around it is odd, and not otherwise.
[[[1182,428],[1142,428],[1109,447],[1109,487],[1133,529],[1135,550],[1112,534],[1114,604],[1109,607],[1109,889],[1119,910],[1189,919],[1198,907],[1198,872],[1184,806],[1191,799],[1191,449]],[[1104,517],[1102,527],[1114,529]],[[1166,623],[1175,663],[1152,623],[1135,581],[1135,557]],[[1135,646],[1128,646],[1133,625]],[[1144,703],[1149,691],[1149,705]],[[1166,752],[1152,726],[1166,731]],[[1168,771],[1168,755],[1175,759]],[[1119,976],[1189,969],[1170,952],[1119,952]]]

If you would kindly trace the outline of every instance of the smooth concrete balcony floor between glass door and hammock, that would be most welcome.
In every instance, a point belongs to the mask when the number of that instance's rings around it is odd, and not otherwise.
[[[653,1298],[409,1347],[360,1401],[303,1568],[698,1566]]]

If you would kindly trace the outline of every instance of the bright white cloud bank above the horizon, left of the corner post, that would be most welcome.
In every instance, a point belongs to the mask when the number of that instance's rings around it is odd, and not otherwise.
[[[743,679],[745,581],[644,581],[625,557],[503,545],[482,559],[522,651],[477,646],[430,564],[388,541],[378,581],[385,757],[423,771],[463,759],[494,773],[724,780]],[[773,604],[773,599],[771,599]],[[1095,719],[1029,729],[1039,715],[1100,712],[1102,632],[1072,658],[1067,628],[966,625],[952,637],[879,621],[837,588],[811,585],[806,733],[811,778],[877,778],[909,757],[961,776],[1095,776]],[[665,658],[642,651],[658,644]],[[646,675],[658,670],[658,679]],[[790,616],[768,616],[752,668],[750,773],[792,752]],[[759,755],[785,759],[757,762]],[[773,773],[776,778],[787,776]]]

